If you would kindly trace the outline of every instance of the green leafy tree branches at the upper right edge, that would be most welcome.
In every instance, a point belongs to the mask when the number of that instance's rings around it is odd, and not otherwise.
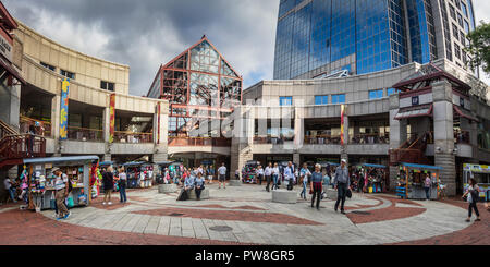
[[[470,41],[465,51],[471,57],[469,65],[471,69],[481,66],[487,74],[490,74],[490,23],[480,21],[481,25],[468,34]]]

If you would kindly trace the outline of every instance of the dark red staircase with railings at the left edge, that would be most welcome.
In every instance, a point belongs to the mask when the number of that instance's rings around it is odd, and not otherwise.
[[[20,134],[0,120],[0,170],[21,165],[24,158],[46,157],[44,136]]]

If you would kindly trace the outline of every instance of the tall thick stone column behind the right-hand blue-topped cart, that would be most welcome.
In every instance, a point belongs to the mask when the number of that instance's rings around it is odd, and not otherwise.
[[[454,121],[452,87],[446,81],[432,85],[436,166],[442,167],[441,181],[448,185],[448,195],[456,194]]]

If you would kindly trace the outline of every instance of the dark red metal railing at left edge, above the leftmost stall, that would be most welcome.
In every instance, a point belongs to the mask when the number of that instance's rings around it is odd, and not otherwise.
[[[7,135],[0,141],[1,159],[46,157],[46,138],[33,134]]]

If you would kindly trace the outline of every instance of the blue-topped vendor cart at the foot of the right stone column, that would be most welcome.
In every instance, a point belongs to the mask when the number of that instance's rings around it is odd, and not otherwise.
[[[430,199],[439,198],[439,173],[441,167],[415,163],[400,163],[396,195],[408,199],[426,199],[424,181],[426,174],[431,179]]]

